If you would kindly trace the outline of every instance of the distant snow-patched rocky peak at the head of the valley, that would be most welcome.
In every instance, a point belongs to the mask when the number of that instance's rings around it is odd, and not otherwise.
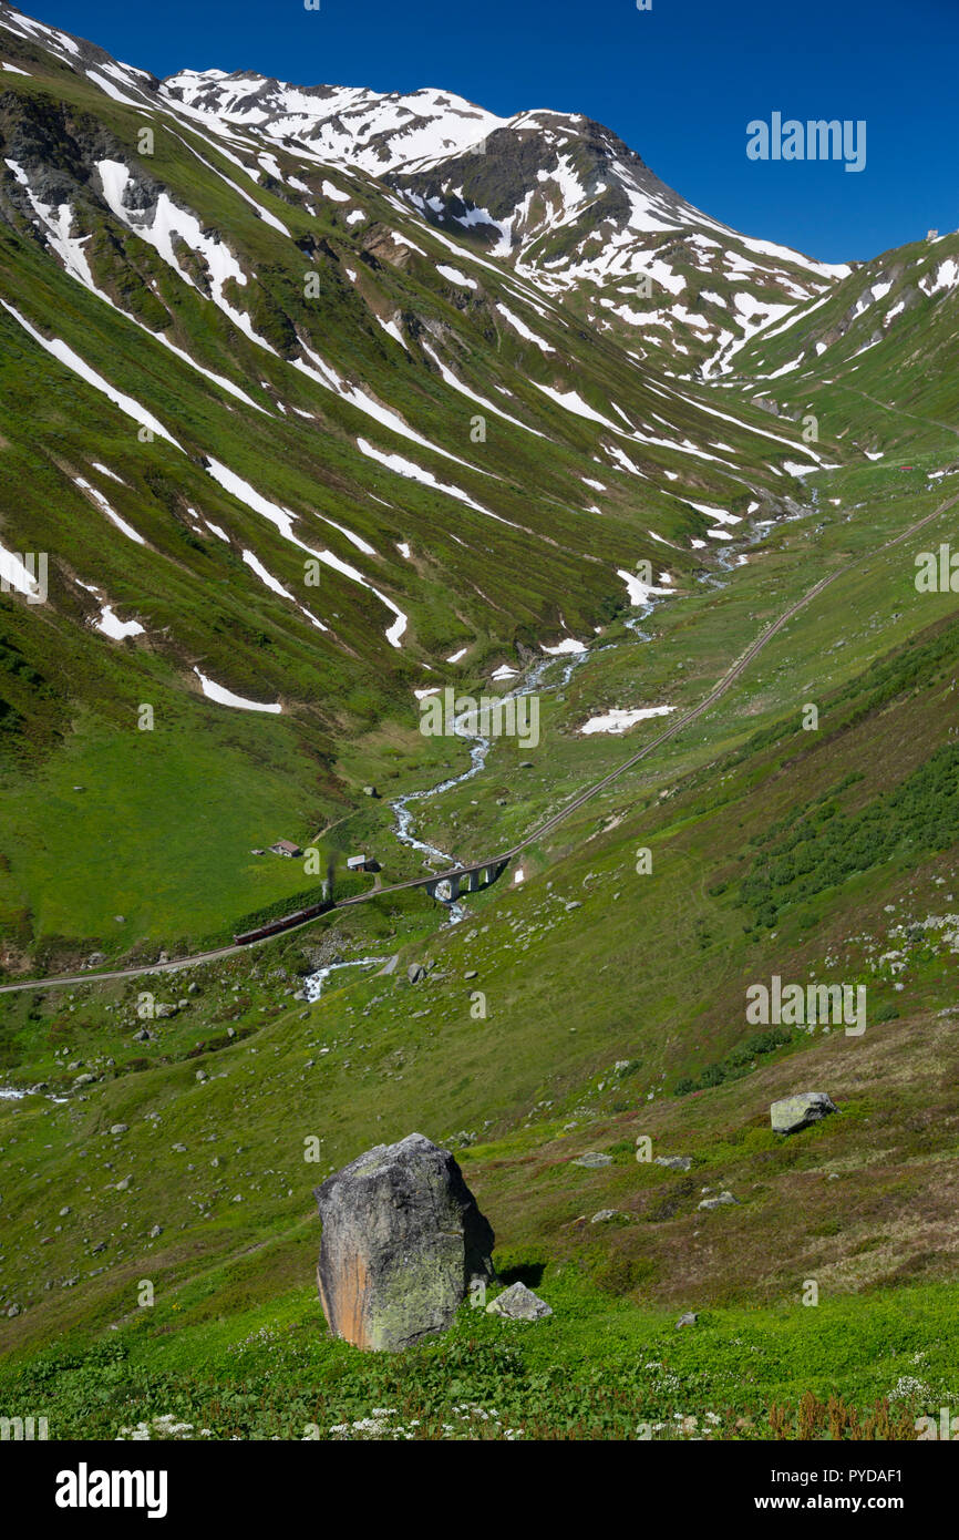
[[[702,214],[580,112],[497,117],[434,88],[220,69],[171,75],[160,97],[220,139],[268,139],[388,182],[434,228],[510,262],[639,356],[667,350],[685,368],[725,371],[756,333],[850,271]]]

